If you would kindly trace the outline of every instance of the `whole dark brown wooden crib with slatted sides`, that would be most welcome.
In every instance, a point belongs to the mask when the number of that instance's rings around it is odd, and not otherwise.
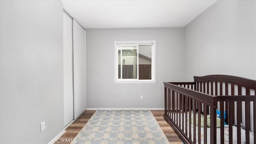
[[[241,123],[245,125],[245,131],[242,129],[245,132],[244,141],[256,143],[255,89],[256,81],[229,75],[194,77],[194,82],[164,82],[164,119],[186,144],[224,144],[233,143],[233,139],[240,144]],[[218,133],[216,110],[220,110]],[[203,115],[202,129],[201,118],[198,118],[198,127],[196,126],[196,114]],[[210,115],[210,132],[207,132],[207,115]],[[224,122],[228,124],[228,140],[224,140]],[[233,136],[234,125],[236,137]],[[218,142],[217,136],[220,138]]]

